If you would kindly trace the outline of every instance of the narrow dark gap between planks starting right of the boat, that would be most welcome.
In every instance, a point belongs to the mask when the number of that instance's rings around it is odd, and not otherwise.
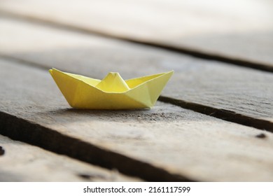
[[[191,102],[186,102],[180,99],[174,99],[170,97],[160,96],[158,98],[160,102],[165,102],[169,104],[174,104],[176,106],[181,106],[183,109],[190,109],[198,113],[203,113],[208,116],[213,116],[215,118],[220,118],[222,120],[230,121],[232,123],[238,123],[240,125],[246,125],[248,127],[254,127],[259,130],[265,130],[267,132],[273,132],[273,123],[267,120],[252,118],[249,116],[244,116],[234,111],[228,111],[225,109],[216,109],[210,106],[204,106],[202,104],[195,104]]]

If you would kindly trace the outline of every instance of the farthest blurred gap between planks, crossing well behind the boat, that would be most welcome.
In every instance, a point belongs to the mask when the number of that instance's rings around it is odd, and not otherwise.
[[[52,20],[45,20],[45,19],[35,18],[35,17],[27,16],[27,15],[18,14],[18,13],[6,12],[5,10],[1,10],[1,9],[0,9],[0,15],[4,16],[6,18],[11,18],[13,20],[21,20],[23,22],[31,22],[31,23],[35,23],[38,25],[46,25],[48,27],[54,27],[57,29],[64,29],[67,31],[75,31],[75,32],[81,33],[81,34],[87,34],[87,35],[94,34],[97,36],[115,38],[118,40],[127,41],[129,43],[146,45],[146,46],[150,46],[150,47],[154,47],[154,48],[169,50],[172,52],[178,52],[178,53],[181,53],[184,55],[190,55],[192,57],[197,57],[200,59],[209,59],[209,60],[214,60],[214,61],[218,61],[218,62],[225,62],[225,63],[233,65],[233,66],[244,66],[244,67],[251,68],[251,69],[257,69],[260,71],[267,71],[267,72],[273,73],[273,66],[269,66],[269,64],[261,64],[258,62],[249,62],[244,59],[225,57],[223,55],[212,54],[210,52],[201,52],[201,51],[194,50],[193,48],[175,47],[174,45],[168,45],[165,43],[155,43],[154,41],[141,41],[139,39],[128,38],[125,36],[118,36],[115,34],[107,34],[103,31],[99,31],[99,30],[95,30],[95,29],[85,29],[85,28],[76,27],[73,25],[62,24],[61,22],[56,22],[56,21],[52,21]]]

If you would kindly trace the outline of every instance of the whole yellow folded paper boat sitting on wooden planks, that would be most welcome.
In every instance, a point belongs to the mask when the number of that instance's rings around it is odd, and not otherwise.
[[[57,69],[50,74],[69,105],[76,109],[151,109],[174,71],[123,80],[110,72],[103,80]]]

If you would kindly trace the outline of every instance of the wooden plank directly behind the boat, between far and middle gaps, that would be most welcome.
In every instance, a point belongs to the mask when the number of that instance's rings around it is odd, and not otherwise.
[[[223,119],[273,131],[272,73],[14,20],[1,19],[0,25],[0,52],[9,57],[97,78],[109,71],[132,78],[174,69],[165,97],[227,110],[231,115]]]

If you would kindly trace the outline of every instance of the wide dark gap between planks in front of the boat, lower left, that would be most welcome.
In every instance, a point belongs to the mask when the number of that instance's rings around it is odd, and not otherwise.
[[[116,168],[123,174],[137,176],[146,181],[194,181],[186,176],[170,174],[146,162],[99,148],[2,111],[0,111],[0,134],[93,165],[107,169]]]

